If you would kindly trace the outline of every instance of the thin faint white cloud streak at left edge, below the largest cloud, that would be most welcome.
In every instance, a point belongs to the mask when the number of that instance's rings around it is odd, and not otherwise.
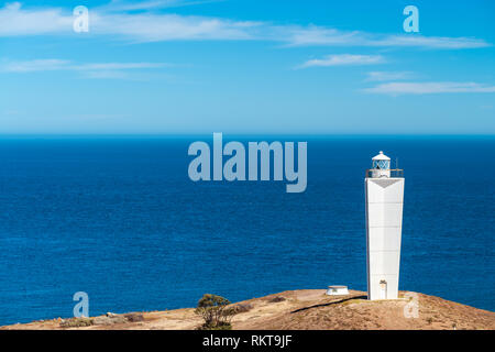
[[[0,73],[34,73],[54,70],[84,72],[87,78],[127,78],[128,70],[170,67],[167,63],[89,63],[77,64],[66,59],[45,58],[32,61],[4,61],[0,64]]]

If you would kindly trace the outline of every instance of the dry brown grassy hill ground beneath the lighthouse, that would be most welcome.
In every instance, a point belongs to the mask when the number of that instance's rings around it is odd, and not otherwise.
[[[246,311],[233,317],[232,327],[234,330],[495,329],[495,312],[424,294],[417,294],[415,318],[414,309],[410,309],[414,301],[406,294],[402,292],[398,300],[370,301],[365,293],[356,290],[350,290],[346,296],[327,296],[324,289],[288,290],[234,304]],[[194,310],[110,314],[91,318],[91,324],[85,327],[70,327],[74,319],[58,318],[6,326],[0,330],[191,330],[201,324]],[[409,315],[405,315],[405,310]]]

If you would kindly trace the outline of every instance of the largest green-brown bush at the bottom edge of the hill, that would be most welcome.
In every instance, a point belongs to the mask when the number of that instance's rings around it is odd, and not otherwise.
[[[205,320],[200,330],[230,330],[235,309],[228,307],[230,301],[221,296],[206,294],[198,301],[195,312]]]

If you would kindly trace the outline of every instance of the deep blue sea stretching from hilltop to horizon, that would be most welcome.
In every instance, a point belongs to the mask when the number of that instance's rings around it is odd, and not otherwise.
[[[224,135],[224,142],[235,139]],[[308,141],[308,187],[193,183],[195,138],[2,138],[0,324],[193,307],[330,284],[365,290],[364,170],[383,150],[406,189],[400,289],[495,310],[495,138]]]

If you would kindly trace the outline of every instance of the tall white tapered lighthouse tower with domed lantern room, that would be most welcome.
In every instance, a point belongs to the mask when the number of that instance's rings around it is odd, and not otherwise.
[[[404,177],[391,169],[391,158],[380,152],[366,170],[367,298],[397,299]]]

